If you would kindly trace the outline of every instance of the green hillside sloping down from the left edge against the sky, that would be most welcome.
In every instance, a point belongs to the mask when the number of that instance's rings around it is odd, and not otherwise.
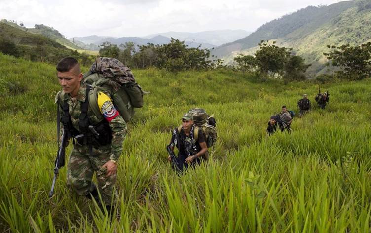
[[[43,35],[43,36],[45,36],[49,39],[57,41],[58,43],[64,45],[67,48],[81,49],[77,44],[74,44],[72,41],[66,39],[60,32],[58,32],[56,29],[54,29],[52,27],[48,27],[48,26],[43,25],[43,24],[36,24],[35,28],[26,28],[26,27],[23,27],[23,26],[20,26],[20,25],[16,24],[15,22],[8,21],[8,20],[5,20],[5,19],[1,20],[0,22],[4,23],[4,24],[7,24],[7,25],[10,25],[12,27],[15,27],[19,30],[23,30],[23,31],[33,33],[33,34]]]

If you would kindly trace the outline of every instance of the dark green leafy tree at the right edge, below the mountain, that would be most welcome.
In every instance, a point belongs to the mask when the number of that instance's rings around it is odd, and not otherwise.
[[[330,64],[342,70],[337,71],[340,78],[360,80],[371,75],[371,42],[360,46],[344,44],[336,47],[328,45],[329,53],[324,53]]]

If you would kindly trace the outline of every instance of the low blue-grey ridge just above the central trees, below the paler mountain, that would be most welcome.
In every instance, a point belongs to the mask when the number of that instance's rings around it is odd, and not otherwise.
[[[74,37],[75,43],[79,44],[82,48],[85,48],[83,44],[89,44],[89,46],[95,45],[97,46],[97,50],[99,50],[98,46],[101,45],[103,42],[110,42],[112,44],[125,44],[126,42],[134,42],[136,45],[146,45],[148,43],[153,44],[167,44],[170,42],[170,38],[164,37],[162,35],[156,35],[151,38],[141,38],[141,37],[100,37],[100,36],[88,36],[88,37]],[[70,39],[70,40],[72,40]],[[213,44],[209,43],[200,43],[195,41],[185,41],[189,47],[198,47],[201,44],[201,48],[213,48],[216,47]]]

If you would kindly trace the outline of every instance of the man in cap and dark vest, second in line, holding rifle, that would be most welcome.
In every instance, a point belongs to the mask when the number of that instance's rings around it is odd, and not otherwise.
[[[202,128],[193,125],[193,116],[186,113],[182,117],[182,127],[173,130],[170,149],[178,148],[178,166],[181,171],[189,164],[199,164],[201,156],[207,152],[205,136]],[[171,161],[171,156],[168,157]]]

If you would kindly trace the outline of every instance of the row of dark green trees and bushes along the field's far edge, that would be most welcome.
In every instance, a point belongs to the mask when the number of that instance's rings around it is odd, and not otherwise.
[[[46,38],[34,39],[34,47],[25,46],[11,39],[0,36],[0,52],[23,57],[32,61],[55,64],[66,56],[76,57],[82,65],[90,66],[95,56],[79,53],[60,45],[51,46]],[[58,44],[59,45],[59,44]],[[275,41],[261,40],[259,49],[254,55],[238,54],[233,64],[223,64],[223,60],[210,54],[209,49],[189,48],[184,41],[172,38],[168,44],[135,45],[101,44],[99,56],[114,57],[126,66],[134,69],[156,67],[171,72],[186,70],[233,69],[241,72],[253,72],[260,78],[282,78],[285,81],[304,80],[305,72],[310,66],[304,58],[296,55],[292,48],[280,47]],[[371,76],[371,42],[359,46],[345,44],[341,46],[327,45],[330,50],[324,55],[328,66],[336,67],[332,75],[321,75],[319,79],[343,78],[360,80]]]

